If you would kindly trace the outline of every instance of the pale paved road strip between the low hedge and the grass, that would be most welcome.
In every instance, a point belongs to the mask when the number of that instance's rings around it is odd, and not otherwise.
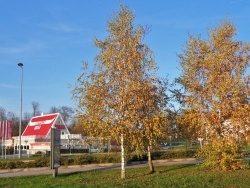
[[[173,160],[155,160],[153,161],[155,166],[168,166],[173,164],[197,164],[199,160],[194,158],[186,159],[173,159]],[[139,168],[147,166],[147,162],[134,162],[126,166],[126,168]],[[61,166],[58,168],[58,174],[74,173],[74,172],[86,172],[92,170],[104,170],[104,169],[119,169],[120,163],[107,163],[107,164],[90,164],[90,165],[76,165],[76,166]],[[48,167],[43,168],[25,168],[25,169],[11,169],[0,170],[0,178],[2,177],[15,177],[15,176],[36,176],[42,174],[51,174],[53,171]]]

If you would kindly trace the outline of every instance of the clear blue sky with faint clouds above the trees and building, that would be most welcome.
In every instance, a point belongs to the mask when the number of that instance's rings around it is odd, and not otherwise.
[[[225,19],[250,43],[248,0],[0,0],[0,106],[20,112],[23,66],[23,112],[32,101],[42,112],[51,106],[75,107],[70,84],[82,63],[94,64],[93,38],[108,36],[107,20],[122,3],[134,12],[135,24],[150,26],[144,42],[154,51],[159,76],[180,75],[177,54],[188,33],[206,38],[207,29]]]

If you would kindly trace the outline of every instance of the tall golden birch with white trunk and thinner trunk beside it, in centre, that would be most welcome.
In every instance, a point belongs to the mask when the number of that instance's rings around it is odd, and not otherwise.
[[[155,140],[163,135],[165,124],[160,117],[167,97],[166,83],[156,77],[154,54],[143,43],[145,28],[135,27],[133,13],[125,6],[120,8],[107,22],[110,35],[94,40],[100,50],[95,69],[90,71],[88,64],[84,65],[73,98],[83,132],[121,143],[124,179],[125,153],[145,148],[150,153]],[[149,164],[153,171],[151,160]]]

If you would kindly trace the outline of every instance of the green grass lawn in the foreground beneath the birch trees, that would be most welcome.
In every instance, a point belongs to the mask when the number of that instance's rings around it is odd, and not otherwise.
[[[125,180],[120,179],[120,170],[99,170],[71,174],[1,178],[0,187],[225,187],[250,186],[250,170],[204,171],[197,165],[173,165],[156,167],[149,174],[148,168],[126,169]]]

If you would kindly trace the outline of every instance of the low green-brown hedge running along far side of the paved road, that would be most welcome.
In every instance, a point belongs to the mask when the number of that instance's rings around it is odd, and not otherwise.
[[[169,150],[161,152],[153,152],[152,159],[173,159],[173,158],[188,158],[194,157],[195,150]],[[140,157],[137,155],[131,155],[127,157],[127,163],[132,161],[145,161],[147,160],[147,155],[144,154]],[[120,153],[112,154],[84,154],[84,155],[69,155],[61,157],[61,165],[85,165],[85,164],[99,164],[99,163],[120,163],[121,155]],[[10,161],[1,161],[0,169],[15,169],[15,168],[36,168],[36,167],[49,167],[50,158],[49,157],[39,157],[31,161],[20,161],[20,160],[10,160]]]

